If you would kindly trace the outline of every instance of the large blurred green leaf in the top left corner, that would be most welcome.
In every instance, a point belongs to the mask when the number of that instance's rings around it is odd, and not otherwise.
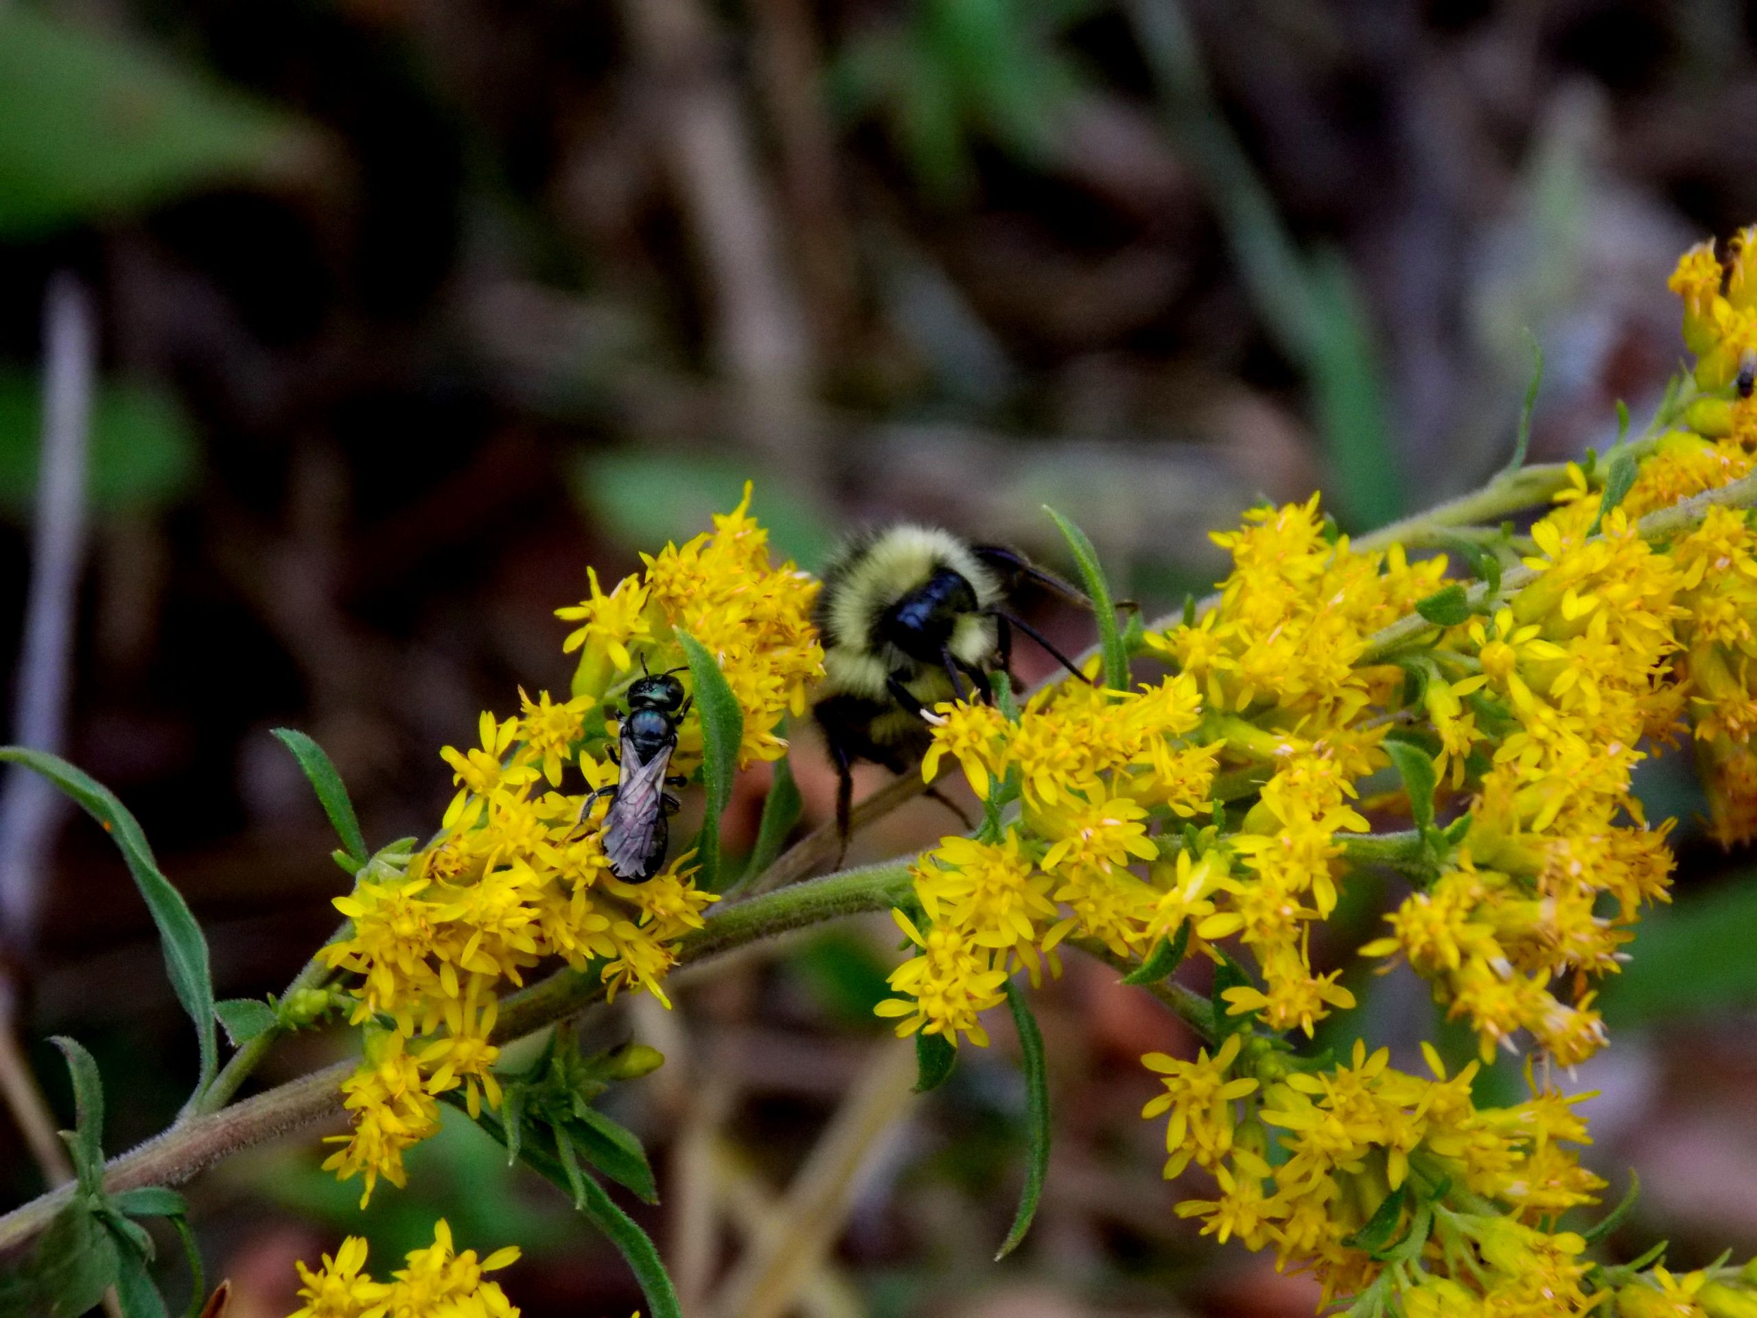
[[[274,183],[318,163],[295,121],[184,72],[137,33],[0,11],[0,237]]]

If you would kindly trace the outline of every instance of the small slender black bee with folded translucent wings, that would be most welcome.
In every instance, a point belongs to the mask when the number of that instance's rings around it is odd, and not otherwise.
[[[648,673],[629,684],[620,754],[611,756],[622,773],[580,807],[583,821],[599,796],[611,798],[601,833],[604,859],[610,872],[627,884],[643,884],[659,873],[671,842],[669,815],[676,814],[678,801],[666,787],[682,787],[683,778],[666,777],[666,768],[676,750],[676,724],[692,703],[683,694],[683,684],[671,677],[682,671]]]

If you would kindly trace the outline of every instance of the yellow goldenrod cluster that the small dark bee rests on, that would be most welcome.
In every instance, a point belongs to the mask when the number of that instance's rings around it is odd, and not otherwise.
[[[645,559],[645,573],[559,615],[576,622],[564,648],[580,650],[569,699],[520,692],[520,713],[483,713],[480,745],[446,747],[457,796],[439,835],[418,851],[387,851],[336,907],[346,937],[323,949],[330,967],[358,975],[353,1021],[365,1056],[343,1090],[353,1132],[325,1162],[341,1177],[402,1184],[402,1155],[437,1128],[436,1095],[464,1088],[471,1114],[501,1102],[490,1042],[495,995],[522,984],[546,958],[596,970],[618,989],[661,988],[675,945],[701,928],[715,902],[691,879],[689,856],[641,884],[615,879],[585,791],[615,784],[610,759],[617,699],[643,671],[685,663],[678,631],[720,666],[743,712],[740,763],[785,752],[780,719],[803,710],[822,670],[810,624],[817,583],[792,564],[775,568],[768,532],[748,515],[750,489],[713,531]],[[678,728],[673,771],[701,764],[696,713]],[[576,771],[583,791],[569,789]],[[669,1003],[668,1003],[669,1005]]]

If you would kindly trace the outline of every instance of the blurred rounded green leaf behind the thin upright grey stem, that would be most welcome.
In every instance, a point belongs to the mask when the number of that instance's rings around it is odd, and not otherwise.
[[[33,373],[0,369],[0,511],[11,517],[30,517],[35,503],[40,434],[42,381]],[[170,392],[130,380],[95,387],[86,497],[100,515],[179,499],[195,485],[199,464],[193,425]]]

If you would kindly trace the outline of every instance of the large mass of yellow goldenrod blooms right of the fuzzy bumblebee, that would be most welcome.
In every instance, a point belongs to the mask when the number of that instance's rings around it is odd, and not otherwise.
[[[1214,538],[1233,562],[1218,599],[1137,647],[1170,677],[1063,682],[1016,719],[942,705],[924,773],[956,761],[989,822],[917,863],[896,912],[915,954],[880,1014],[986,1044],[1005,979],[1054,970],[1059,942],[1146,960],[1181,935],[1233,981],[1195,1061],[1146,1058],[1165,1174],[1218,1186],[1181,1214],[1362,1313],[1604,1311],[1606,1274],[1555,1228],[1602,1188],[1569,1100],[1534,1084],[1479,1109],[1476,1063],[1448,1077],[1430,1049],[1432,1075],[1409,1075],[1362,1044],[1307,1063],[1283,1035],[1353,1005],[1312,931],[1351,866],[1379,863],[1413,891],[1358,954],[1407,960],[1483,1061],[1530,1047],[1573,1067],[1606,1042],[1594,982],[1667,900],[1671,822],[1643,817],[1636,764],[1694,740],[1717,836],[1757,835],[1757,531],[1734,506],[1641,524],[1753,469],[1753,243],[1725,265],[1697,248],[1673,279],[1697,353],[1681,425],[1576,464],[1525,536],[1471,529],[1474,592],[1446,555],[1360,552],[1316,497],[1254,510]],[[1418,605],[1423,626],[1390,627]],[[1690,1285],[1720,1299],[1650,1271],[1620,1311],[1757,1313],[1724,1276]]]

